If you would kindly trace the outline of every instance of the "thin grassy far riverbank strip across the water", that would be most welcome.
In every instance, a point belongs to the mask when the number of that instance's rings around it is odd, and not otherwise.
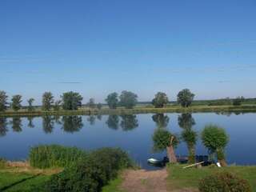
[[[154,107],[145,107],[137,106],[134,109],[109,109],[102,108],[98,109],[89,109],[81,108],[79,110],[6,110],[1,112],[1,117],[13,117],[13,116],[42,116],[42,115],[97,115],[97,114],[158,114],[158,113],[250,113],[256,112],[256,105],[244,105],[244,106],[190,106],[183,108],[181,106],[168,106],[165,108],[154,108]]]

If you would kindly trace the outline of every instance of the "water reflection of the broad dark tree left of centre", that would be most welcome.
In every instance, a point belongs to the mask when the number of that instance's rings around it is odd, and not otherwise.
[[[62,130],[73,133],[82,129],[82,117],[78,115],[63,116],[62,117]]]

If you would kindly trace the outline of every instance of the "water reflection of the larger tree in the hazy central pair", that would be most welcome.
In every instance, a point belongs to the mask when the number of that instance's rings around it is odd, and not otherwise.
[[[122,130],[134,130],[138,127],[138,119],[135,114],[126,114],[121,115],[121,123],[120,126]]]

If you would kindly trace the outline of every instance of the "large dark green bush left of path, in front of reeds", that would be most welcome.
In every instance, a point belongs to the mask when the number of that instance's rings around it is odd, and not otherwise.
[[[128,155],[119,149],[102,148],[91,152],[84,160],[66,167],[46,182],[46,191],[101,191],[118,170],[131,166]]]

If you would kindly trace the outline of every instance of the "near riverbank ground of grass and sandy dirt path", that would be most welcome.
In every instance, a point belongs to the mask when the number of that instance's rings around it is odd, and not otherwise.
[[[183,165],[170,165],[156,171],[124,170],[118,178],[104,186],[102,192],[118,191],[198,191],[198,182],[214,173],[228,171],[246,179],[256,192],[256,166],[202,167],[182,169]],[[26,162],[10,162],[0,169],[0,191],[33,191],[60,169],[35,169]]]

